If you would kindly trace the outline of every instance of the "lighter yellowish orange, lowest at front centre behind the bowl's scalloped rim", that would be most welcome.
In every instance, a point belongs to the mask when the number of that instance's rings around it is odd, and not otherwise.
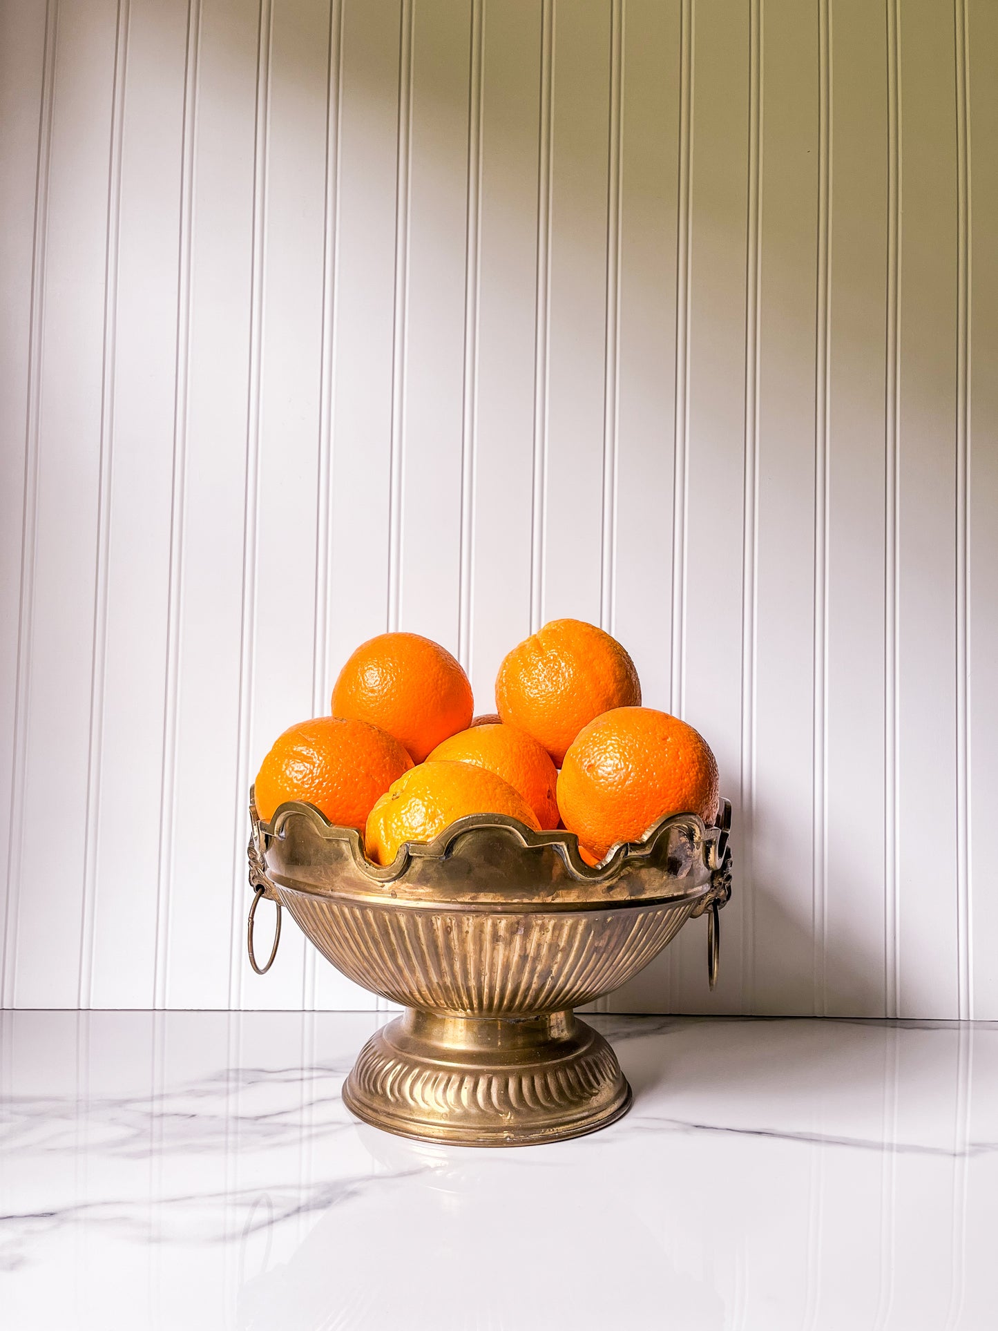
[[[432,841],[468,813],[506,813],[540,831],[527,801],[495,772],[434,760],[401,776],[374,805],[365,832],[367,855],[375,864],[391,864],[403,841]]]

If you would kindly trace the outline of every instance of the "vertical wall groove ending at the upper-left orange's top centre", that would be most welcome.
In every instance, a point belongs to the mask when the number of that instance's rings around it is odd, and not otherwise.
[[[413,128],[413,0],[402,0],[398,65],[398,158],[395,168],[395,293],[391,341],[391,438],[389,451],[389,603],[387,628],[395,632],[402,611],[402,475],[406,409],[409,302],[409,177]]]

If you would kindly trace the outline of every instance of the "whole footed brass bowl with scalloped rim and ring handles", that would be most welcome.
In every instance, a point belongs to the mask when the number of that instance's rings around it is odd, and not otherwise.
[[[282,804],[270,824],[250,792],[253,968],[270,968],[279,908],[350,980],[406,1012],[365,1047],[343,1101],[375,1127],[422,1141],[520,1146],[579,1137],[631,1103],[613,1050],[574,1008],[625,984],[709,908],[731,896],[725,800],[719,827],[693,813],[663,819],[597,868],[571,832],[515,819],[459,819],[394,864],[365,858],[353,828],[310,804]],[[266,965],[253,916],[278,904]]]

